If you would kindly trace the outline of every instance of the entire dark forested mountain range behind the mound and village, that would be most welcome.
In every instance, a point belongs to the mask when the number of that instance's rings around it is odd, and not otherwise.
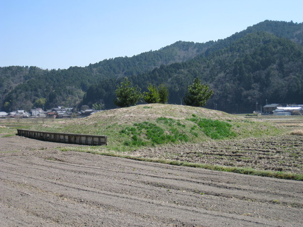
[[[256,102],[302,104],[302,44],[303,23],[264,21],[226,39],[178,41],[160,50],[87,67],[50,71],[3,67],[0,108],[30,109],[39,98],[45,98],[44,107],[97,102],[115,108],[115,90],[125,76],[142,91],[149,84],[166,85],[169,103],[180,104],[188,85],[199,77],[214,90],[209,108],[251,112]]]

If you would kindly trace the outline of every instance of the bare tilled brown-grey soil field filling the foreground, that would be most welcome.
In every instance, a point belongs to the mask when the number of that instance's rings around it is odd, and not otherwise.
[[[0,137],[1,226],[302,224],[303,182],[62,152],[63,146]]]

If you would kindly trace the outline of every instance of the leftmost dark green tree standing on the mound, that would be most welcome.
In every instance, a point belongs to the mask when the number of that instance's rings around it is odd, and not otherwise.
[[[138,85],[131,86],[127,77],[121,82],[121,86],[117,86],[116,96],[114,103],[120,107],[135,105],[142,98],[141,89],[138,89]]]

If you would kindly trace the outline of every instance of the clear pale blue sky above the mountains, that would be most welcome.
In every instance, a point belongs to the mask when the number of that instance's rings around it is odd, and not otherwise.
[[[303,22],[302,0],[0,0],[0,67],[67,69]]]

